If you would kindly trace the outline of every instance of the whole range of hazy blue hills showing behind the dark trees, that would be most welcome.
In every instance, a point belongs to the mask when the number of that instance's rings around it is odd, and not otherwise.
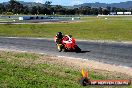
[[[42,6],[42,3],[36,3],[36,2],[24,2],[24,1],[19,1],[21,4],[23,4],[24,6]],[[8,2],[3,2],[2,4],[7,5]],[[54,6],[54,5],[53,5]],[[73,8],[78,8],[81,6],[90,6],[93,8],[98,8],[98,7],[117,7],[117,8],[124,8],[124,9],[130,9],[132,8],[132,1],[127,1],[127,2],[120,2],[120,3],[111,3],[111,4],[106,4],[106,3],[83,3],[83,4],[79,4],[79,5],[74,5],[74,6],[64,6],[64,8],[68,8],[68,9],[73,9]]]

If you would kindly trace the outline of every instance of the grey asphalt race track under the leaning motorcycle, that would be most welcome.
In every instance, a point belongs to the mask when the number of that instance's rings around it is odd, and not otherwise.
[[[45,53],[53,56],[68,56],[132,67],[132,44],[77,41],[77,45],[82,49],[82,52],[58,52],[53,40],[0,38],[0,49]]]

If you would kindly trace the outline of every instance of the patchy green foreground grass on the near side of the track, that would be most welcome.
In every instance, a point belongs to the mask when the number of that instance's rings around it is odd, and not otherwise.
[[[39,62],[42,57],[48,56],[0,51],[0,88],[84,88],[78,82],[80,71],[46,61]],[[50,60],[50,57],[47,60]],[[89,76],[91,79],[108,79],[92,71]],[[126,87],[130,88],[124,88]]]

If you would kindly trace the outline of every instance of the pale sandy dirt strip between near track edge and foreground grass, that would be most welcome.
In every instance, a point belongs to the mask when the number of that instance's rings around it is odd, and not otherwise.
[[[76,69],[78,71],[81,71],[81,69],[84,68],[86,71],[89,70],[96,74],[99,73],[111,79],[132,79],[131,68],[109,65],[91,60],[82,60],[71,57],[42,56],[36,63],[55,64]]]

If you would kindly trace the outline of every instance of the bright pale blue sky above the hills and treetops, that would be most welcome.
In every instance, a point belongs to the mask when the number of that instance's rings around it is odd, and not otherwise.
[[[9,0],[0,0],[0,2],[8,2]],[[82,3],[119,3],[125,1],[132,1],[132,0],[17,0],[17,1],[25,1],[25,2],[39,2],[44,3],[45,1],[51,1],[52,5],[64,5],[64,6],[72,6]]]

